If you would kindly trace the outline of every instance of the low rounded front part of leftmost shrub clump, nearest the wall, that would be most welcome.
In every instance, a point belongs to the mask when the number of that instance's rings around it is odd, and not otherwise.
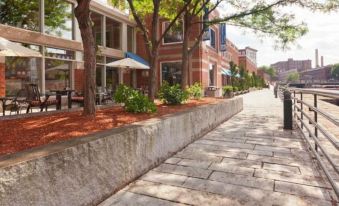
[[[150,101],[148,97],[140,92],[137,92],[132,98],[127,100],[125,109],[133,113],[154,113],[157,111],[154,102]]]

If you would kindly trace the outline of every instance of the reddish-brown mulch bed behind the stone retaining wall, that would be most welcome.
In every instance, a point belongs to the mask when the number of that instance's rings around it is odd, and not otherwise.
[[[122,107],[112,107],[98,110],[95,118],[84,117],[81,112],[65,112],[23,119],[0,120],[0,156],[217,101],[220,100],[203,98],[190,100],[183,105],[160,104],[155,114],[134,114],[125,112]]]

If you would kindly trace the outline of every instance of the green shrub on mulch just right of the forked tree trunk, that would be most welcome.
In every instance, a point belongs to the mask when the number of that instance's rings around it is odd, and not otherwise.
[[[164,81],[158,93],[159,98],[165,104],[182,104],[188,99],[188,92],[183,91],[179,84],[170,86]]]

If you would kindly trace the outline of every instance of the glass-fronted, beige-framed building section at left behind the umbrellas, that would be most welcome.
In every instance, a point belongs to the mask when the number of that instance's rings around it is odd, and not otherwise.
[[[2,1],[0,36],[39,51],[43,57],[0,59],[0,96],[14,96],[26,83],[38,84],[42,93],[66,87],[83,90],[83,48],[74,7],[73,0],[32,0],[22,10],[23,7],[13,1]],[[52,11],[60,18],[51,15]],[[133,72],[105,64],[135,51],[135,22],[124,12],[96,0],[91,2],[91,11],[93,32],[100,49],[97,86],[114,87],[122,79],[132,84]]]

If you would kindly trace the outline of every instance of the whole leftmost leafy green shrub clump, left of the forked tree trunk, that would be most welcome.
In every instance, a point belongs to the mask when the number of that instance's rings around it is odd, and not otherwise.
[[[157,111],[154,102],[139,91],[126,85],[119,85],[114,100],[117,103],[124,103],[125,110],[133,113],[153,113]]]

